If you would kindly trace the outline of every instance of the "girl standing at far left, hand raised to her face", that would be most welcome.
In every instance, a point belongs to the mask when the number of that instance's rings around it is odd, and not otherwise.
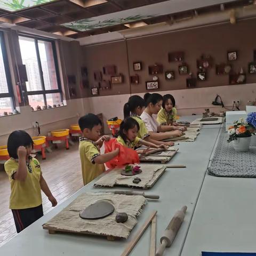
[[[43,214],[41,189],[52,206],[57,205],[36,158],[31,157],[33,140],[25,131],[14,131],[7,142],[10,159],[5,162],[5,172],[11,183],[10,209],[17,233],[41,218]]]

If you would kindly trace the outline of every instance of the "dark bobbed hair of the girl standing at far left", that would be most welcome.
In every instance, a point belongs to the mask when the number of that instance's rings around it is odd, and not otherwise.
[[[14,131],[9,135],[8,141],[7,141],[7,150],[9,153],[9,156],[17,159],[17,150],[20,146],[32,146],[33,147],[34,142],[30,135],[22,130]]]

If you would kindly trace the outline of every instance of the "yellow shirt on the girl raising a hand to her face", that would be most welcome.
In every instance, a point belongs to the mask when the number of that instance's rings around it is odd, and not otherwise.
[[[19,167],[18,160],[10,158],[4,164],[4,169],[11,183],[10,209],[27,209],[42,204],[40,187],[41,167],[36,158],[31,157],[27,163],[25,181],[14,180],[13,174]]]

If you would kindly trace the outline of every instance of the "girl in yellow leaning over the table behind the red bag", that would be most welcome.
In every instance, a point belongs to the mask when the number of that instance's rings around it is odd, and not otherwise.
[[[140,126],[138,122],[132,118],[127,117],[125,118],[121,125],[119,130],[119,135],[117,137],[117,141],[127,147],[134,149],[135,147],[140,147],[141,145],[145,145],[147,147],[151,148],[164,148],[167,150],[167,147],[165,145],[155,145],[154,143],[145,141],[137,137],[137,134],[140,130]],[[138,154],[146,153],[146,150],[137,150]]]

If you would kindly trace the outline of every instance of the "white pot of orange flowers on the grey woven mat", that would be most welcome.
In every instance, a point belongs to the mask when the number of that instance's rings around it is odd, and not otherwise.
[[[251,124],[245,123],[243,119],[240,119],[228,128],[228,134],[228,142],[233,143],[234,149],[238,152],[246,152],[249,150],[254,128]]]

